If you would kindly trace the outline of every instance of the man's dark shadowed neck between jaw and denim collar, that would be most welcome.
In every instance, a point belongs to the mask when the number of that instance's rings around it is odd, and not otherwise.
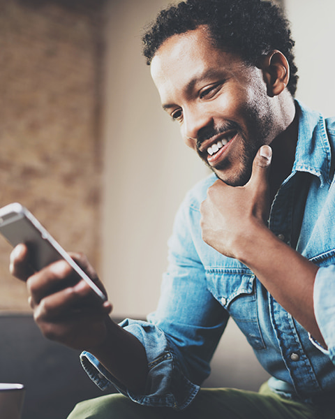
[[[295,162],[299,117],[296,110],[291,115],[287,128],[271,142],[272,161],[269,178],[271,202],[283,180],[290,175]]]

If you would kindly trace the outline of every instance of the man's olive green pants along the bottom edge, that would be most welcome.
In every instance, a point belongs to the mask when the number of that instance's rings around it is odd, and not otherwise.
[[[267,384],[260,392],[215,388],[200,390],[184,411],[140,406],[123,395],[81,402],[68,419],[334,419],[335,404],[312,407],[275,395]]]

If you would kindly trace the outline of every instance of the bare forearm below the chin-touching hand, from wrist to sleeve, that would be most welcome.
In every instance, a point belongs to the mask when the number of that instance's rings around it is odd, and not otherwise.
[[[257,231],[250,230],[249,234],[237,258],[255,273],[285,310],[320,344],[325,344],[313,307],[318,266],[279,240],[265,226],[258,227]]]

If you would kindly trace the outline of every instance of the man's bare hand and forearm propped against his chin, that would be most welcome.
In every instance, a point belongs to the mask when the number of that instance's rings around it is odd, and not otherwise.
[[[278,240],[266,225],[270,162],[271,155],[262,156],[259,151],[245,186],[232,187],[218,180],[209,188],[201,207],[202,237],[223,255],[253,270],[277,302],[325,344],[313,307],[318,267]]]

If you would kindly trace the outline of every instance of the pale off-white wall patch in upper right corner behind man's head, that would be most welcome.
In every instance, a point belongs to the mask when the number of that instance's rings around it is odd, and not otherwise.
[[[325,116],[335,115],[333,0],[285,0],[296,41],[297,98]]]

